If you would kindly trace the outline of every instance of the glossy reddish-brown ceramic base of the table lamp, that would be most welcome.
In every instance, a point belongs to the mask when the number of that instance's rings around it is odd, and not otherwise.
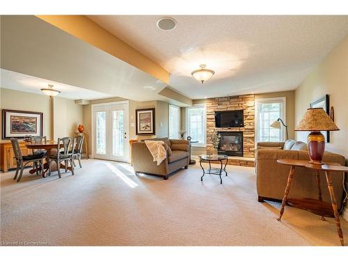
[[[307,137],[310,164],[324,164],[325,137],[320,132],[310,132]]]

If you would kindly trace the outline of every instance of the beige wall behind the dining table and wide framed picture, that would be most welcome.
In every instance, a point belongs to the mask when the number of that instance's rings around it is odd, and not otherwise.
[[[52,111],[50,110],[51,106]],[[57,139],[58,136],[72,136],[73,132],[77,131],[77,126],[83,115],[82,106],[74,104],[73,100],[54,97],[53,102],[50,102],[50,97],[47,95],[6,88],[1,88],[1,109],[42,112],[42,134],[47,136],[47,139]]]

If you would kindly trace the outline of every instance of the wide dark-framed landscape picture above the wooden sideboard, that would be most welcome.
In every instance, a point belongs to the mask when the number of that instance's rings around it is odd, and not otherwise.
[[[42,136],[43,113],[37,111],[2,110],[2,139],[24,139]]]

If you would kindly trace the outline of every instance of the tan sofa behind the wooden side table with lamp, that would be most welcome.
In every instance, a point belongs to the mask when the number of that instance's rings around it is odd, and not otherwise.
[[[277,163],[277,159],[305,159],[309,160],[307,144],[301,141],[287,141],[286,143],[258,143],[255,157],[255,171],[257,175],[258,200],[280,201],[284,196],[290,166]],[[345,166],[345,157],[331,152],[325,152],[323,161],[337,162]],[[342,204],[343,173],[333,173],[333,187],[335,198],[340,208]],[[325,173],[320,173],[322,198],[331,202],[327,189]],[[294,179],[288,198],[317,198],[317,182],[314,171],[308,168],[295,168]]]

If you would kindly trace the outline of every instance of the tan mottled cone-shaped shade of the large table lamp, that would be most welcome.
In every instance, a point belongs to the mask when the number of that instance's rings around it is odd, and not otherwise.
[[[340,130],[322,108],[307,109],[295,131],[336,131]]]

